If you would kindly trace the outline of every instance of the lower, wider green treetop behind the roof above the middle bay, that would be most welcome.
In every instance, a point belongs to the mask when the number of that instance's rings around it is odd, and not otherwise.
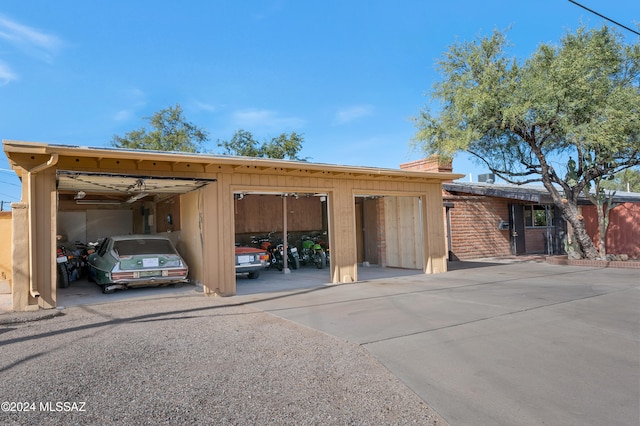
[[[304,138],[302,135],[291,132],[290,135],[282,133],[268,142],[260,144],[255,140],[251,132],[238,130],[231,140],[218,141],[218,146],[223,148],[223,154],[239,155],[244,157],[263,157],[304,161],[298,157],[302,150]]]

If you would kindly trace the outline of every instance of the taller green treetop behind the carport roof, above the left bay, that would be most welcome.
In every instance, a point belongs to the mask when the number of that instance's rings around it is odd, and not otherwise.
[[[202,152],[208,139],[206,131],[186,120],[182,107],[176,104],[145,117],[150,129],[140,128],[114,136],[111,144],[116,148],[149,149],[156,151]]]

